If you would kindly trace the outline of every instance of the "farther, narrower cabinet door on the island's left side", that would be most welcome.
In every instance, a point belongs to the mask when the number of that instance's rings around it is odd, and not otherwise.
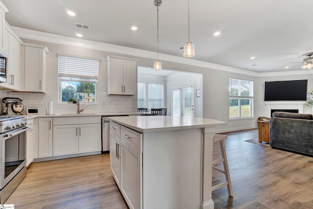
[[[120,160],[119,154],[120,139],[110,131],[110,166],[113,178],[118,187],[120,187]]]

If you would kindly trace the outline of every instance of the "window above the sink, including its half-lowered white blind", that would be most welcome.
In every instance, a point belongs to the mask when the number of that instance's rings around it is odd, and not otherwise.
[[[59,54],[59,101],[96,102],[99,59]]]

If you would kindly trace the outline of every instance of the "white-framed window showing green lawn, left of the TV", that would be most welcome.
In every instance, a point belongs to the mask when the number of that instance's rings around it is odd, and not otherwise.
[[[229,118],[252,117],[253,81],[229,78]]]

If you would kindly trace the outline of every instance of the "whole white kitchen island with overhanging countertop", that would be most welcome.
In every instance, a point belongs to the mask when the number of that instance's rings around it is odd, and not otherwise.
[[[214,209],[214,119],[116,116],[110,124],[110,160],[131,209]]]

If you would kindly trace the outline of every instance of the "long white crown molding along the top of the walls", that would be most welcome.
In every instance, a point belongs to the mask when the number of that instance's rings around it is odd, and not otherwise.
[[[125,54],[125,55],[143,57],[143,58],[149,58],[149,59],[156,58],[156,52],[153,52],[153,51],[146,51],[146,50],[126,47],[126,46],[117,46],[117,45],[106,44],[102,42],[95,42],[95,41],[89,41],[89,40],[84,40],[84,39],[72,38],[72,37],[45,33],[45,32],[40,32],[40,31],[35,31],[35,30],[29,30],[29,29],[25,29],[21,27],[11,26],[11,28],[20,38],[48,42],[48,43],[53,43],[53,44],[67,45],[67,46],[79,46],[79,47],[84,47],[84,48],[89,48],[89,49],[95,49],[95,50],[100,50],[100,51]],[[279,72],[254,72],[250,70],[243,70],[239,68],[233,68],[233,67],[223,66],[219,64],[203,62],[199,60],[193,60],[190,58],[178,57],[178,56],[162,54],[162,53],[159,53],[159,59],[162,61],[197,66],[197,67],[213,69],[213,70],[223,70],[227,72],[245,74],[245,75],[250,75],[250,76],[255,76],[255,77],[308,74],[308,72],[302,72],[302,70],[301,71],[279,71]]]

